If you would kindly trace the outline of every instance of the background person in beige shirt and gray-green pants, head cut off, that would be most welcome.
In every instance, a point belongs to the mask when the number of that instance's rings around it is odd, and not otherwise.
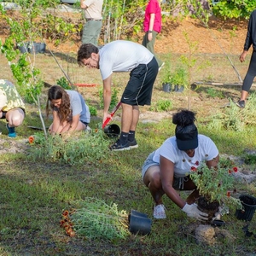
[[[98,45],[102,30],[102,5],[103,0],[80,0],[86,20],[83,26],[82,44]]]

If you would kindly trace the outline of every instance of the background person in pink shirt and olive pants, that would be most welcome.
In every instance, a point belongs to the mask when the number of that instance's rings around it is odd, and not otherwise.
[[[165,65],[165,62],[157,58],[154,53],[155,38],[160,33],[162,26],[160,2],[161,0],[149,0],[143,21],[143,30],[145,32],[143,46],[154,54],[159,70]]]

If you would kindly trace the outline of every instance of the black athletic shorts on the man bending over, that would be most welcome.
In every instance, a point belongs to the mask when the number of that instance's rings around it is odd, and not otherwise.
[[[128,105],[150,105],[158,63],[153,57],[148,64],[140,64],[131,70],[121,102]]]

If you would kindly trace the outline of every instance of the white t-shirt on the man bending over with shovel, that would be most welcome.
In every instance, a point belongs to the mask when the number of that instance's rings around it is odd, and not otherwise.
[[[113,41],[99,49],[102,80],[113,72],[130,72],[140,64],[148,64],[154,55],[142,44],[125,40]]]

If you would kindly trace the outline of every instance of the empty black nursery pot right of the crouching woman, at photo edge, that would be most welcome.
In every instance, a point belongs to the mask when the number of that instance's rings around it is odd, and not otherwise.
[[[239,199],[244,207],[242,210],[236,210],[236,218],[250,221],[256,209],[256,198],[252,195],[240,195]]]

